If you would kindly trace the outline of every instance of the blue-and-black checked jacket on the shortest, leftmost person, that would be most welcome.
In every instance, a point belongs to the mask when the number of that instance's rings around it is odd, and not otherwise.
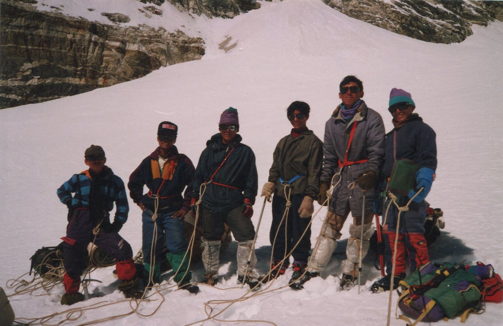
[[[68,199],[71,199],[71,206],[74,208],[90,208],[90,202],[96,199],[90,196],[92,182],[93,177],[89,170],[74,174],[57,189],[59,200],[62,203],[66,203]],[[112,169],[105,166],[104,171],[100,174],[100,178],[95,177],[94,182],[100,182],[99,191],[101,194],[100,197],[103,199],[103,209],[107,212],[111,211],[114,208],[115,202],[117,209],[114,220],[124,224],[127,221],[129,205],[122,179],[116,176]],[[72,193],[75,193],[73,197]]]

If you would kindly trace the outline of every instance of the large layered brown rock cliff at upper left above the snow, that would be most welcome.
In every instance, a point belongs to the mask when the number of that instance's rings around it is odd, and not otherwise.
[[[110,86],[204,55],[204,41],[180,31],[103,25],[37,11],[27,4],[33,1],[0,2],[1,108]]]

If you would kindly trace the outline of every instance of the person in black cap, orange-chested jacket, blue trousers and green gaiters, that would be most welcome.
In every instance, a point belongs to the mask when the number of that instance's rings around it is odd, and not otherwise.
[[[159,146],[131,173],[128,182],[129,195],[141,208],[143,223],[142,251],[145,261],[143,270],[144,286],[160,283],[160,262],[163,242],[168,253],[167,261],[177,272],[173,280],[179,288],[197,293],[199,287],[191,284],[192,273],[189,269],[189,243],[184,236],[182,220],[191,204],[190,192],[194,180],[194,165],[184,154],[178,152],[178,126],[163,121],[157,127]],[[149,191],[143,193],[143,186]],[[185,191],[184,191],[185,190]],[[182,195],[183,193],[183,195]],[[153,220],[152,216],[156,215]],[[154,257],[150,255],[157,225],[157,238]],[[149,282],[150,275],[152,275]]]

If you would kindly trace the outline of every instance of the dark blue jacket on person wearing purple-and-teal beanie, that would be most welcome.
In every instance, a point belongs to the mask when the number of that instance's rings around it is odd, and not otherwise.
[[[385,180],[391,175],[393,169],[393,138],[396,132],[396,159],[409,159],[418,165],[418,169],[427,167],[437,169],[437,135],[433,129],[423,122],[423,119],[414,114],[409,121],[394,128],[386,134],[385,157],[382,173]]]

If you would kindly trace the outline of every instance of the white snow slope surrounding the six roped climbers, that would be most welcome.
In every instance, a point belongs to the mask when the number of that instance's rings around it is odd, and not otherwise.
[[[77,6],[70,1],[45,3],[64,4],[68,12]],[[99,3],[85,7],[97,8]],[[112,6],[111,2],[103,3]],[[135,3],[125,2],[124,10]],[[233,106],[239,111],[243,143],[256,153],[261,187],[267,181],[276,143],[291,128],[286,107],[294,100],[309,103],[308,127],[322,137],[324,123],[339,103],[339,82],[348,74],[363,80],[364,99],[383,116],[387,131],[392,128],[386,110],[388,94],[398,87],[412,94],[415,112],[437,133],[437,180],[428,200],[434,207],[442,207],[447,226],[430,248],[432,260],[481,261],[502,272],[503,149],[499,143],[503,119],[498,104],[503,101],[503,24],[475,26],[474,35],[461,44],[430,44],[351,19],[320,1],[261,4],[260,10],[232,20],[188,18],[164,4],[165,13],[173,13],[178,24],[184,22],[187,29],[199,31],[205,39],[208,49],[202,60],[161,68],[112,87],[0,111],[0,285],[5,288],[7,280],[28,271],[29,258],[36,249],[56,245],[64,236],[66,209],[55,190],[73,173],[86,168],[83,151],[91,144],[103,146],[107,165],[127,180],[157,146],[157,124],[169,120],[179,125],[176,145],[180,152],[197,162],[206,140],[218,132],[220,113]],[[71,10],[74,16],[85,17],[85,12]],[[83,7],[81,10],[87,12]],[[96,10],[100,11],[107,12]],[[140,21],[131,24],[135,22]],[[158,24],[168,30],[175,28],[172,22]],[[225,53],[218,44],[227,37],[232,38],[229,45],[235,42],[236,47]],[[255,225],[261,203],[258,198]],[[313,245],[325,211],[321,209],[314,218]],[[121,231],[134,252],[141,247],[140,213],[132,205]],[[267,271],[269,263],[270,223],[268,203],[257,243],[260,273]],[[322,277],[306,283],[304,290],[262,292],[231,305],[218,318],[267,320],[277,325],[385,324],[388,295],[367,291],[380,276],[373,268],[374,257],[369,255],[364,261],[362,293],[338,289],[348,228],[349,223]],[[234,242],[222,257],[220,274],[224,280],[218,289],[201,286],[196,296],[167,289],[162,291],[165,301],[153,316],[132,313],[102,324],[185,325],[205,319],[205,302],[236,299],[246,293],[232,288],[237,279],[235,249]],[[93,296],[109,295],[72,307],[120,300],[123,296],[116,290],[118,282],[112,270],[94,272],[93,278],[103,283],[90,287]],[[196,264],[195,279],[202,280],[202,275],[202,264]],[[164,275],[166,280],[170,277],[171,273]],[[278,279],[270,289],[283,287],[287,281]],[[12,291],[6,290],[8,294]],[[62,293],[60,286],[50,296],[21,295],[10,300],[18,317],[41,317],[67,309],[59,304]],[[142,303],[138,311],[152,313],[160,301]],[[213,304],[213,315],[225,306]],[[86,311],[76,321],[64,324],[77,325],[128,311],[129,304],[122,302]],[[502,317],[501,305],[487,304],[485,313],[470,316],[466,325],[500,325]],[[391,320],[392,325],[404,323]],[[208,320],[195,324],[227,323]]]

